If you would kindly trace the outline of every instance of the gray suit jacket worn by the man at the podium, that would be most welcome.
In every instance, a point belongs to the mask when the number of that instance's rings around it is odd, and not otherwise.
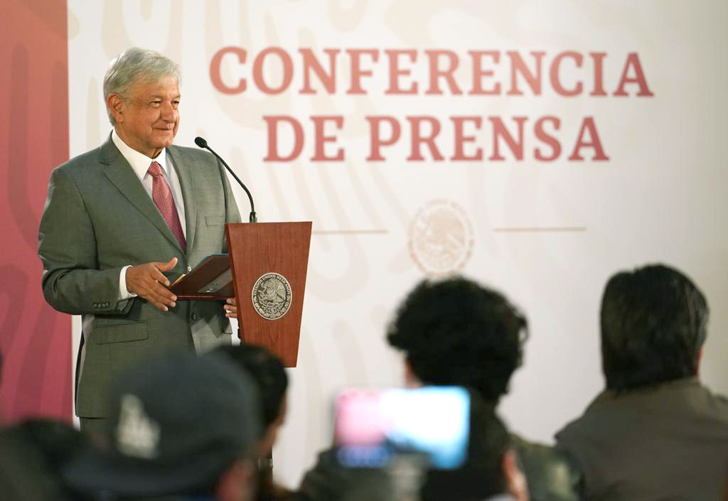
[[[226,252],[226,222],[240,222],[226,175],[198,149],[170,146],[184,198],[186,252],[111,137],[53,170],[39,229],[43,293],[60,312],[83,315],[84,355],[76,414],[106,416],[119,371],[159,350],[230,343],[220,303],[178,301],[162,312],[141,298],[116,301],[127,264],[178,264],[170,281],[209,254]]]

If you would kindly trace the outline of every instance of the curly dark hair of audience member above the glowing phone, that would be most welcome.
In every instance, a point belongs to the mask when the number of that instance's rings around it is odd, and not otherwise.
[[[427,384],[472,387],[496,402],[523,359],[527,322],[496,291],[463,277],[424,280],[405,298],[387,340]]]

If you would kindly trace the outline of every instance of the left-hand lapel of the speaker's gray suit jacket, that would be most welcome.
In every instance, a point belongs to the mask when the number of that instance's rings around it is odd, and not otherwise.
[[[124,156],[116,149],[114,142],[111,141],[109,136],[108,141],[101,146],[101,163],[106,164],[104,173],[108,180],[122,192],[124,197],[129,200],[132,205],[135,206],[146,218],[149,219],[151,224],[157,226],[159,232],[162,232],[167,240],[172,242],[180,251],[184,253],[179,242],[175,238],[170,226],[167,225],[167,221],[162,217],[162,213],[159,213],[157,205],[149,197],[149,193],[146,192],[144,186],[142,186],[139,178],[132,170],[129,162],[124,159]],[[186,196],[185,196],[186,198]],[[187,205],[185,201],[185,206]],[[186,209],[185,209],[186,211]]]

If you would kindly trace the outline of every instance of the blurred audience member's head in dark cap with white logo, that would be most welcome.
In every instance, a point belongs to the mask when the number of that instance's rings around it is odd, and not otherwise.
[[[250,376],[223,356],[172,353],[124,374],[105,449],[68,466],[68,484],[104,497],[214,495],[247,501],[261,423]]]

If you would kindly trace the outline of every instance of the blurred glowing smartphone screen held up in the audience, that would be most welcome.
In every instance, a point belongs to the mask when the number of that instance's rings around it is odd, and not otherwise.
[[[422,454],[430,468],[458,468],[467,453],[470,396],[461,387],[344,390],[334,423],[339,462],[381,468]]]

